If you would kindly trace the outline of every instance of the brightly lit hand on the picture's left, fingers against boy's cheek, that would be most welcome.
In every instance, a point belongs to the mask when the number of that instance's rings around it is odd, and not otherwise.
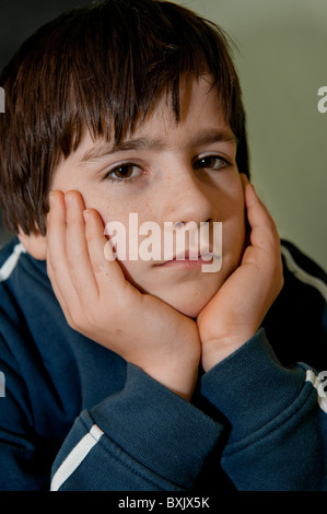
[[[142,294],[107,260],[103,221],[78,191],[50,194],[47,270],[68,324],[185,399],[200,360],[197,324]]]

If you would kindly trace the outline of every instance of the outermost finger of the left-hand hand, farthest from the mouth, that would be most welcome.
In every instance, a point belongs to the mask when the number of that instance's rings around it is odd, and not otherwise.
[[[62,309],[68,312],[68,299],[77,302],[66,258],[66,207],[61,191],[49,197],[47,218],[47,272]]]

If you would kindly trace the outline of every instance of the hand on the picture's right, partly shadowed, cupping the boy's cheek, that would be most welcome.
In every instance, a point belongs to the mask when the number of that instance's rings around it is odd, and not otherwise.
[[[249,244],[238,268],[197,318],[205,371],[256,334],[283,284],[276,225],[253,185],[245,175],[241,177],[250,229]]]

